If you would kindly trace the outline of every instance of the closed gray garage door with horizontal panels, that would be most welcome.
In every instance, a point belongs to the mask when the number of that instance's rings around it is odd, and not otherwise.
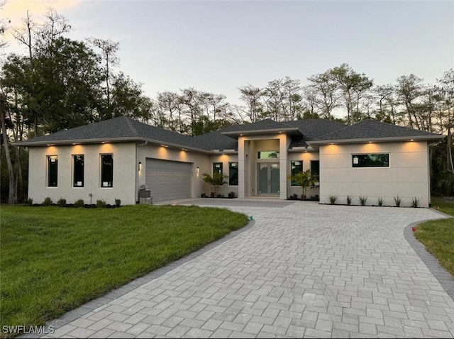
[[[192,163],[147,159],[145,183],[153,201],[191,197]]]

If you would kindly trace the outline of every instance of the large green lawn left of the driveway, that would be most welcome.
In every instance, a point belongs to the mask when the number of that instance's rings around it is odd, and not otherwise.
[[[247,223],[199,206],[1,206],[0,328],[43,325]]]

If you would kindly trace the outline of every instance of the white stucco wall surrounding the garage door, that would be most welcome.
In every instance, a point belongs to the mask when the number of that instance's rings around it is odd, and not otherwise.
[[[206,189],[204,187],[206,184],[202,180],[203,177],[201,174],[205,172],[211,173],[211,162],[208,154],[182,150],[179,148],[165,148],[160,145],[151,144],[138,146],[137,154],[137,163],[142,162],[142,171],[138,172],[138,186],[135,187],[137,199],[140,185],[145,184],[145,166],[147,158],[191,163],[191,197],[199,198],[201,193],[206,193]],[[199,174],[197,174],[197,167],[199,167]]]

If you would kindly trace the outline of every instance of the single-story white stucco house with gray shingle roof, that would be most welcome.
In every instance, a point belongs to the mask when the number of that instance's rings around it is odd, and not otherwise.
[[[28,195],[68,203],[104,199],[136,204],[140,187],[154,201],[196,198],[213,189],[202,174],[228,175],[220,193],[240,198],[287,199],[301,188],[289,174],[310,169],[319,186],[308,191],[321,204],[330,196],[345,204],[367,196],[367,204],[430,204],[429,152],[443,135],[362,121],[345,126],[321,119],[230,126],[198,137],[119,117],[16,143],[29,148]]]

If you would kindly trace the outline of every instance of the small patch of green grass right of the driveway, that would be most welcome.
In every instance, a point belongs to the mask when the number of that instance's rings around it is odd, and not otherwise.
[[[454,201],[432,199],[432,208],[454,216]],[[454,277],[454,218],[421,223],[414,235]]]

